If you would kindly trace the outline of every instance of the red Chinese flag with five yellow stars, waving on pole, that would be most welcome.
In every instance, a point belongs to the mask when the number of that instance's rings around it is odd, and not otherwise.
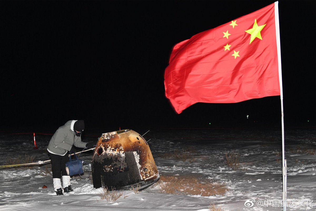
[[[196,102],[280,95],[275,9],[273,3],[173,47],[165,94],[178,114]]]

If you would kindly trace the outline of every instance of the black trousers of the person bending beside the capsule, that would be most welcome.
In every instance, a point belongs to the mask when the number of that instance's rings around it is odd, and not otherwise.
[[[61,175],[68,176],[66,171],[66,162],[69,160],[68,153],[66,153],[64,156],[52,154],[50,152],[48,152],[48,154],[51,158],[53,178],[60,179]]]

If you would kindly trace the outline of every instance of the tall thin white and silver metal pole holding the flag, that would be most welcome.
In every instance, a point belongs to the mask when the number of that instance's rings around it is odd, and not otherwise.
[[[286,211],[286,160],[284,156],[284,112],[283,112],[283,88],[282,88],[282,68],[281,68],[281,45],[280,45],[280,26],[279,26],[279,9],[278,3],[274,3],[274,16],[276,24],[276,48],[278,58],[278,69],[279,69],[279,82],[280,82],[280,97],[281,97],[281,125],[282,125],[282,178],[283,178],[283,211]]]

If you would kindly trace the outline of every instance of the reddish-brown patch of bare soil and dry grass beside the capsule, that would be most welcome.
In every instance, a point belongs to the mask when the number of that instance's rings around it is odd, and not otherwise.
[[[161,176],[157,185],[161,193],[184,195],[224,195],[227,191],[224,185],[209,183],[189,176]]]

